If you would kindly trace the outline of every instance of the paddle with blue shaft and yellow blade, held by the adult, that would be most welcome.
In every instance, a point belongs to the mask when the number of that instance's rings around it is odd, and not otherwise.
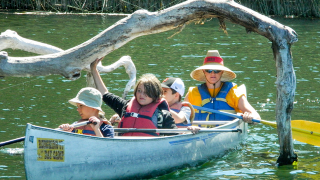
[[[201,111],[242,119],[242,116],[231,113],[225,113],[214,109],[204,108],[200,106],[193,106],[193,108]],[[252,121],[267,124],[274,128],[277,128],[276,122],[255,119],[253,119]],[[291,130],[293,139],[310,145],[320,146],[320,123],[311,122],[307,120],[291,120]]]

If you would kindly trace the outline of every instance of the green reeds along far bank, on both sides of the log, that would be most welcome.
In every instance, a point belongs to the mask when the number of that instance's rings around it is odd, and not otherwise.
[[[159,11],[186,0],[0,0],[0,9],[132,13],[139,9]],[[320,17],[320,0],[235,0],[264,15]]]

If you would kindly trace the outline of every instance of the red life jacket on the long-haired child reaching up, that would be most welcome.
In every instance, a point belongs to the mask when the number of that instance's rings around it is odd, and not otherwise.
[[[155,113],[159,105],[164,107],[161,109],[169,110],[169,105],[163,98],[158,102],[152,102],[148,105],[141,106],[136,98],[132,97],[128,103],[126,114],[118,124],[118,127],[157,129],[155,124],[152,122],[152,115]],[[122,134],[122,136],[159,136],[159,133],[128,132]]]

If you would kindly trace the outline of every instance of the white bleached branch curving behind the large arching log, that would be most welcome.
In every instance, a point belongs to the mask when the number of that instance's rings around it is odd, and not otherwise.
[[[6,30],[0,34],[0,51],[3,49],[20,49],[23,51],[40,54],[40,55],[47,55],[53,54],[58,52],[63,52],[64,50],[41,42],[37,42],[31,39],[27,39],[18,35],[17,32],[13,30]],[[120,66],[125,66],[126,72],[129,75],[129,81],[126,85],[124,93],[122,94],[122,98],[126,98],[128,95],[129,90],[131,87],[134,87],[135,80],[136,80],[136,68],[129,56],[124,56],[120,60],[116,61],[115,63],[103,66],[101,61],[97,65],[97,70],[99,73],[108,73],[112,72],[113,70],[117,69]],[[90,64],[87,65],[83,70],[87,72],[87,87],[96,88],[95,82],[92,78]]]

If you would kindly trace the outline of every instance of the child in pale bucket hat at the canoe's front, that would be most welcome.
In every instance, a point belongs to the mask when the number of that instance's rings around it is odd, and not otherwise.
[[[69,103],[77,106],[77,111],[81,119],[74,123],[83,121],[91,121],[93,123],[81,127],[70,127],[69,124],[62,124],[59,127],[64,131],[75,132],[78,134],[86,134],[98,137],[114,137],[113,127],[106,120],[100,118],[100,114],[104,114],[101,109],[102,95],[100,91],[94,88],[83,88],[77,96],[69,100]],[[96,124],[94,124],[96,122]]]

